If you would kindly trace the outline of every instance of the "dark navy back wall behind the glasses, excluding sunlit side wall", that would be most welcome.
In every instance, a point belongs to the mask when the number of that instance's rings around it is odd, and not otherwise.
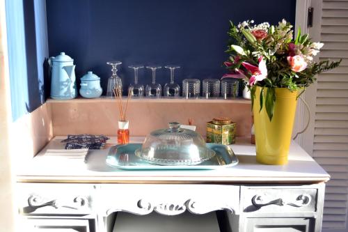
[[[122,61],[122,82],[133,81],[132,64],[176,64],[175,79],[220,78],[225,69],[228,20],[294,24],[294,0],[48,0],[49,56],[72,56],[79,79],[88,70],[102,78],[111,75],[106,61]],[[157,73],[160,84],[169,71]],[[151,80],[150,70],[139,72],[139,82]]]

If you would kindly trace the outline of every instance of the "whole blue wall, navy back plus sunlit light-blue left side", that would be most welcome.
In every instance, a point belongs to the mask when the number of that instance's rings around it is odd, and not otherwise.
[[[106,90],[106,61],[123,62],[125,85],[133,81],[128,65],[176,64],[175,79],[219,78],[225,72],[228,20],[294,24],[296,1],[232,0],[6,0],[13,120],[40,107],[49,95],[45,61],[66,52],[75,59],[77,77],[93,70]],[[48,30],[48,38],[47,38]],[[141,70],[139,81],[150,82]],[[165,84],[169,71],[157,79]]]

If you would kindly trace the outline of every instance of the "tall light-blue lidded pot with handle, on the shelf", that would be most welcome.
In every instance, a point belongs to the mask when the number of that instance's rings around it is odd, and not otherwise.
[[[61,52],[58,56],[50,57],[51,98],[68,100],[77,97],[74,60]]]

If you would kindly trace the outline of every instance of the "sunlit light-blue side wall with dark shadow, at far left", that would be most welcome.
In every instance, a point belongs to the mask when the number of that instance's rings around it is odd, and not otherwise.
[[[45,0],[7,0],[6,26],[15,121],[45,102],[44,63],[48,57]]]

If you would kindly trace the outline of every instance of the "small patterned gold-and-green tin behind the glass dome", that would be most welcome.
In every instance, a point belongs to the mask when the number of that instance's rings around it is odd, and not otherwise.
[[[207,143],[235,144],[236,123],[228,118],[213,118],[207,123]]]

